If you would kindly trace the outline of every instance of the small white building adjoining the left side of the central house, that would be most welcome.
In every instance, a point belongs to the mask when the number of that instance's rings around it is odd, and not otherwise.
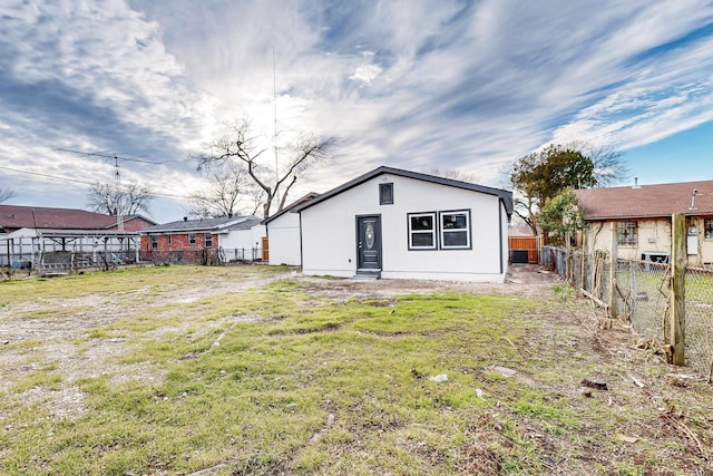
[[[300,239],[300,214],[293,213],[294,208],[316,197],[319,194],[311,192],[295,201],[279,213],[263,220],[268,242],[268,263],[273,265],[302,264],[302,240]]]

